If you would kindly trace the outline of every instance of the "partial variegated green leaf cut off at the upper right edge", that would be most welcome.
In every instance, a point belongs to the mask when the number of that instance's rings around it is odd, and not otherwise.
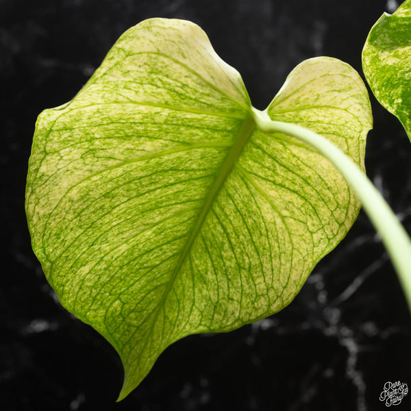
[[[362,68],[379,103],[397,116],[411,139],[411,0],[372,27]]]

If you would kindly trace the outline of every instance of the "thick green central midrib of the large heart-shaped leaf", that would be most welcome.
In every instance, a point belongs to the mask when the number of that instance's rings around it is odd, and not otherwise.
[[[227,179],[227,176],[232,171],[234,164],[236,164],[236,161],[240,157],[242,149],[247,143],[249,136],[251,136],[251,133],[253,132],[254,127],[256,127],[256,123],[254,122],[253,117],[250,114],[249,116],[247,116],[244,123],[242,123],[242,127],[240,131],[238,132],[236,139],[233,142],[232,148],[229,150],[229,153],[227,154],[227,157],[225,158],[223,165],[221,166],[219,176],[216,178],[214,184],[212,185],[212,188],[208,192],[208,196],[206,198],[206,201],[204,202],[203,207],[201,208],[201,212],[199,216],[197,217],[197,221],[195,222],[195,225],[193,225],[192,229],[190,230],[190,234],[186,240],[186,243],[184,244],[184,248],[182,249],[182,252],[180,253],[177,264],[175,264],[173,273],[171,274],[169,284],[167,284],[167,288],[166,290],[164,290],[162,299],[160,300],[157,308],[155,309],[155,319],[153,323],[155,323],[158,317],[160,308],[164,305],[166,298],[169,295],[171,288],[173,287],[175,278],[177,277],[180,269],[182,268],[182,265],[184,264],[184,261],[186,260],[188,253],[191,250],[192,244],[194,243],[195,238],[197,237],[197,234],[199,233],[201,229],[201,226],[206,220],[206,216],[208,212],[210,211],[210,208],[212,206],[212,203],[214,202],[214,199],[219,194],[219,191],[221,190],[221,187],[223,186],[225,180]]]

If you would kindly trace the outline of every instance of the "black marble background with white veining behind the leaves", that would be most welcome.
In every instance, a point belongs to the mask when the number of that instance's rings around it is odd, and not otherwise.
[[[398,3],[398,2],[397,2]],[[401,1],[399,2],[401,3]],[[299,62],[361,73],[369,29],[393,0],[0,0],[0,410],[384,410],[411,384],[411,321],[379,236],[361,213],[290,306],[229,334],[169,347],[127,399],[114,349],[62,309],[31,251],[23,208],[36,116],[71,99],[125,29],[186,18],[236,67],[256,108]],[[411,145],[373,99],[369,177],[411,232]],[[396,409],[411,409],[411,394]]]

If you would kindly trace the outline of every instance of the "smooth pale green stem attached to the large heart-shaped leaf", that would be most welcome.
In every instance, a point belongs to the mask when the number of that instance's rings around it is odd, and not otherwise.
[[[351,158],[323,136],[299,125],[273,121],[266,112],[261,112],[255,108],[253,108],[253,118],[256,125],[263,132],[284,133],[308,142],[340,171],[341,175],[356,191],[362,202],[362,207],[377,232],[379,232],[397,271],[411,311],[411,240],[397,216],[395,216],[393,210],[379,194],[373,183]]]

